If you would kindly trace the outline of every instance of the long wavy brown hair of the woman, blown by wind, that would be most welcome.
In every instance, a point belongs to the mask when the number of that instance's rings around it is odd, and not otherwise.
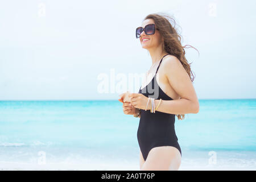
[[[191,63],[188,63],[188,60],[185,58],[184,48],[196,48],[190,45],[181,45],[181,38],[183,39],[183,37],[176,30],[177,24],[175,19],[170,15],[163,13],[149,14],[146,16],[146,18],[144,18],[144,20],[146,19],[153,19],[156,27],[159,28],[160,35],[162,35],[164,39],[163,52],[170,53],[171,55],[177,57],[177,59],[179,59],[180,63],[183,65],[185,71],[187,71],[191,81],[193,82],[195,76],[191,71]],[[196,51],[199,52],[197,49]],[[179,120],[185,118],[184,114],[176,114],[176,116]]]

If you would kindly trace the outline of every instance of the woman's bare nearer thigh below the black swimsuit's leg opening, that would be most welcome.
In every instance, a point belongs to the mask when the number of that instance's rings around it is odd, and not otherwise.
[[[178,170],[181,155],[177,148],[172,146],[154,147],[148,152],[142,170]]]

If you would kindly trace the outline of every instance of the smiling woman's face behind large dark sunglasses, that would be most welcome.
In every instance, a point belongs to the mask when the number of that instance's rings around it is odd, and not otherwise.
[[[152,24],[152,23],[155,24],[153,19],[146,19],[143,21],[141,26],[144,28],[147,24]],[[146,39],[146,38],[149,40],[143,41],[143,39]],[[142,48],[144,49],[152,49],[161,45],[161,35],[158,30],[155,30],[155,34],[153,35],[146,35],[145,32],[143,31],[139,39],[141,40],[141,45],[142,45]]]

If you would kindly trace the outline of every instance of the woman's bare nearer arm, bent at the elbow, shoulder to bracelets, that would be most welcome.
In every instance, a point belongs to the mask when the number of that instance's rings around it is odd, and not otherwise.
[[[199,101],[195,89],[193,88],[191,78],[189,78],[179,59],[175,56],[170,56],[162,64],[164,64],[163,69],[168,82],[181,99],[172,101],[162,100],[158,111],[170,114],[198,113]],[[159,104],[159,101],[155,100],[155,106]]]

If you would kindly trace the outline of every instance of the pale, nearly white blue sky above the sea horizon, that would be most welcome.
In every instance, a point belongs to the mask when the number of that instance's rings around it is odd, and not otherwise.
[[[199,50],[186,53],[199,99],[256,98],[255,1],[155,2],[1,1],[0,100],[118,99],[97,77],[150,68],[135,28],[151,13],[174,16]]]

